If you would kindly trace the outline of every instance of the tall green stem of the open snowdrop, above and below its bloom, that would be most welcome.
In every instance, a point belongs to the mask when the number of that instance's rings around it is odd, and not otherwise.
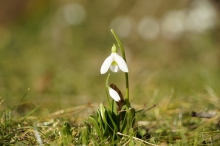
[[[122,45],[122,43],[121,43],[121,41],[120,41],[118,35],[114,32],[113,29],[111,29],[111,32],[112,32],[112,34],[114,35],[114,37],[115,37],[115,39],[116,39],[116,41],[117,41],[117,43],[118,43],[118,46],[119,46],[119,48],[120,48],[120,50],[121,50],[121,54],[122,54],[123,59],[124,59],[125,62],[127,63],[127,61],[126,61],[126,56],[125,56],[125,51],[124,51],[124,47],[123,47],[123,45]],[[129,81],[128,81],[128,73],[127,73],[127,72],[125,72],[125,81],[126,81],[125,102],[126,102],[127,108],[130,108],[130,102],[129,102]]]

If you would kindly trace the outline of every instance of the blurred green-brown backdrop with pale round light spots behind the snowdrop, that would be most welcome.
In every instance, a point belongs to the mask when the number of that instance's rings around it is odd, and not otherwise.
[[[49,109],[106,102],[100,74],[121,38],[131,102],[220,95],[218,0],[0,1],[0,97]],[[124,74],[110,82],[125,92]],[[27,93],[27,95],[26,95]],[[23,97],[25,98],[23,99]],[[198,103],[199,104],[199,103]]]

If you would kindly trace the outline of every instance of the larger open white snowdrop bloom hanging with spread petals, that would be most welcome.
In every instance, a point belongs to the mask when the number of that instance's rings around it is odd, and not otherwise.
[[[105,74],[108,69],[113,72],[118,72],[120,69],[123,72],[128,72],[128,67],[125,60],[117,54],[117,48],[115,45],[112,46],[112,53],[105,59],[101,67],[101,74]]]

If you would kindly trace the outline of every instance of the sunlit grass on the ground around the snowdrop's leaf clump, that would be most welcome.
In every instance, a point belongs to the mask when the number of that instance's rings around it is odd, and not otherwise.
[[[219,105],[219,99],[212,98],[207,98],[203,102],[210,104],[213,101],[213,104]],[[172,95],[167,97],[166,101],[161,102],[162,105],[157,105],[149,110],[147,110],[148,107],[136,105],[136,110],[143,109],[136,114],[135,128],[139,129],[139,133],[133,138],[118,133],[121,140],[117,141],[117,144],[126,145],[129,141],[133,141],[135,145],[145,145],[146,143],[149,145],[220,144],[219,113],[217,111],[214,112],[215,116],[212,118],[198,118],[191,116],[193,105],[190,107],[185,101],[172,102]],[[201,102],[199,99],[194,101],[194,103],[199,102]],[[40,115],[39,107],[31,108],[23,115],[18,114],[15,108],[3,110],[0,121],[1,145],[81,145],[83,137],[80,135],[83,134],[86,126],[83,121],[87,119],[86,116],[83,116],[83,112],[88,109],[94,111],[94,107],[91,105]],[[207,112],[209,111],[207,110]],[[69,138],[62,135],[65,123],[70,124]],[[112,145],[108,140],[99,141],[98,137],[91,137],[91,135],[89,137],[88,145]]]

